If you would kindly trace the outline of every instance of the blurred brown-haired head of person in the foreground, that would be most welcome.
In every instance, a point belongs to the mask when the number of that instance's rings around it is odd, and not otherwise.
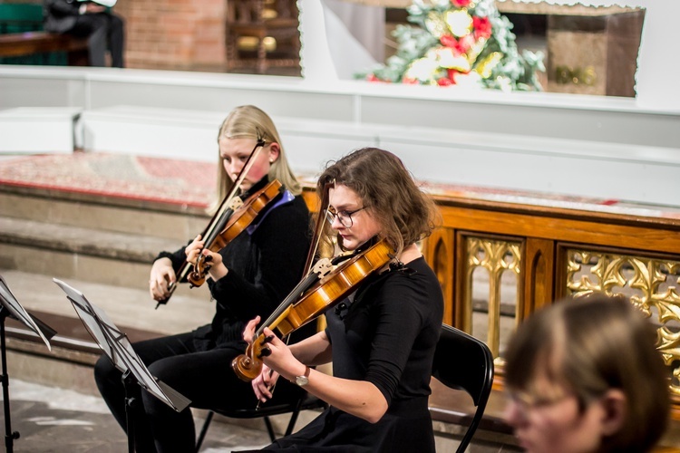
[[[654,327],[623,296],[559,301],[506,353],[505,418],[529,453],[650,451],[669,415]]]

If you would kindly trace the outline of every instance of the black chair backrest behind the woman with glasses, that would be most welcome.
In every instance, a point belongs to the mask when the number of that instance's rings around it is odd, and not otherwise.
[[[445,386],[465,390],[477,407],[471,424],[461,439],[458,452],[465,451],[484,415],[493,382],[493,356],[489,347],[454,327],[442,324],[434,352],[432,376]]]

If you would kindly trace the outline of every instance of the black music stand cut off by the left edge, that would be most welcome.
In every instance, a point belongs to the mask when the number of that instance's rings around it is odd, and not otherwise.
[[[10,419],[9,410],[9,375],[7,374],[7,353],[5,346],[5,319],[11,316],[15,320],[24,323],[26,327],[31,329],[38,335],[47,345],[47,349],[52,351],[52,346],[48,338],[52,338],[56,331],[42,321],[35,318],[24,310],[24,307],[16,300],[15,294],[9,289],[5,278],[0,275],[0,355],[3,360],[3,401],[5,407],[5,448],[8,452],[12,452],[14,448],[15,439],[19,439],[19,431],[12,431],[12,421]]]

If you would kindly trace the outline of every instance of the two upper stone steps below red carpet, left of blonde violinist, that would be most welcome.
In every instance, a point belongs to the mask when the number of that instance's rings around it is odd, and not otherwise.
[[[146,290],[153,258],[184,246],[209,217],[126,195],[0,184],[0,268]]]

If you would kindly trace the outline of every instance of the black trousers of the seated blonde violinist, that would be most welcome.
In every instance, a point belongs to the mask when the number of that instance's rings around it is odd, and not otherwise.
[[[231,361],[245,351],[245,342],[199,352],[194,348],[192,333],[180,333],[132,346],[151,374],[191,400],[191,407],[227,409],[255,408],[257,405],[250,383],[239,380],[231,370]],[[126,429],[121,371],[102,355],[94,366],[94,378],[113,416],[122,429]],[[193,451],[196,430],[189,408],[178,413],[139,385],[132,387],[134,394],[129,396],[137,401],[131,411],[136,451]],[[294,400],[303,391],[280,379],[273,400]]]

